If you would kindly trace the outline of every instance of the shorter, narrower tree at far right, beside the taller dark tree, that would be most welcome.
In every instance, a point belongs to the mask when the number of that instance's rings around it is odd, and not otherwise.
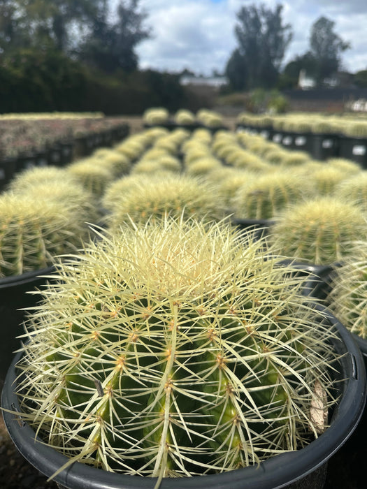
[[[341,64],[340,54],[350,48],[350,43],[343,41],[334,32],[335,22],[326,17],[312,24],[310,34],[310,57],[312,66],[308,70],[316,84],[322,85],[325,78],[338,72]]]

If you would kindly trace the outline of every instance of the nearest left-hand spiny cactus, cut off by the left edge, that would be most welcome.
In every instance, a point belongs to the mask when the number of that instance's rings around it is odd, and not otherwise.
[[[85,212],[41,195],[0,197],[0,277],[47,268],[89,237]]]

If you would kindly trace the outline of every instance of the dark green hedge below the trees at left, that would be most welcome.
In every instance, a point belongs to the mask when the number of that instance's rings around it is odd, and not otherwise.
[[[187,107],[178,75],[136,71],[115,76],[92,73],[55,51],[21,50],[0,61],[0,111],[96,111],[106,115],[141,114],[164,106]]]

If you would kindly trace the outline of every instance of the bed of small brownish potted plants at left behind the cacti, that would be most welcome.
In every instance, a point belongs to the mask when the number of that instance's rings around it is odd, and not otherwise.
[[[122,140],[128,126],[100,113],[2,115],[0,189],[32,166],[64,166],[101,146]]]

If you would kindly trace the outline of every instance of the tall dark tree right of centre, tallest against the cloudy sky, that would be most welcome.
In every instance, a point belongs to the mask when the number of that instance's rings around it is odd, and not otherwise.
[[[275,10],[252,4],[241,7],[237,13],[235,34],[238,48],[226,66],[231,85],[238,85],[238,76],[245,73],[244,87],[274,87],[282,59],[292,41],[290,24],[282,23],[282,5]]]

